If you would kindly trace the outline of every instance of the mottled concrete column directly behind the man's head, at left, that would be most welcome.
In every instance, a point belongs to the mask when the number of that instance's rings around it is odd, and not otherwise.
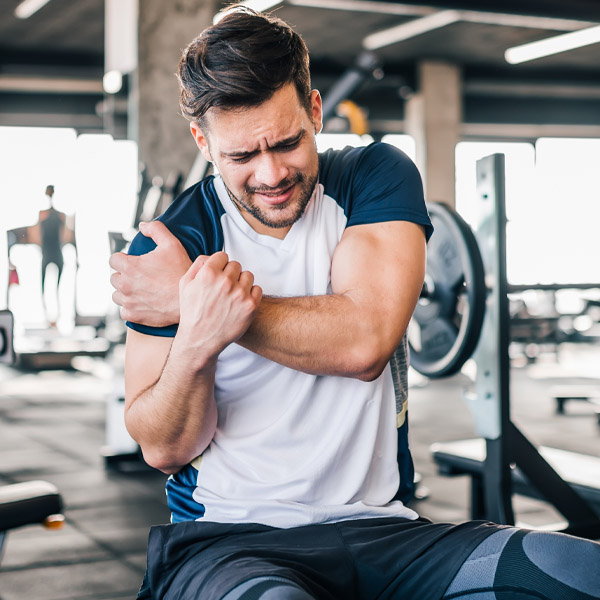
[[[216,0],[139,0],[137,137],[150,178],[173,171],[187,176],[197,154],[189,124],[179,113],[175,72],[182,50],[217,12]]]

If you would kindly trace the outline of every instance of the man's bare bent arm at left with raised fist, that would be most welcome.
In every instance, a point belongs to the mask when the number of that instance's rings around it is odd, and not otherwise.
[[[214,379],[222,350],[248,328],[261,291],[223,252],[197,260],[181,279],[173,340],[130,331],[125,423],[148,464],[174,473],[214,436]]]

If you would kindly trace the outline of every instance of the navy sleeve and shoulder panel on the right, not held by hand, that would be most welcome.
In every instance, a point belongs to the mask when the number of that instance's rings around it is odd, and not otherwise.
[[[344,210],[347,226],[412,221],[433,232],[423,183],[415,164],[398,148],[375,142],[319,155],[319,182]]]

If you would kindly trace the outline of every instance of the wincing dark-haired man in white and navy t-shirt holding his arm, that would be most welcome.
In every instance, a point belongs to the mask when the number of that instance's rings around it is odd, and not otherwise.
[[[402,502],[404,334],[432,232],[415,166],[385,144],[317,154],[308,53],[277,19],[229,13],[178,75],[219,175],[111,258],[126,424],[171,474],[139,597],[600,597],[592,542]]]

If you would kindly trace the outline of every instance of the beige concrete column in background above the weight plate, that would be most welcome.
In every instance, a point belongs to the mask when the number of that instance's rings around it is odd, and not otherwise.
[[[417,146],[425,197],[455,206],[454,151],[462,124],[462,85],[456,65],[425,61],[419,91],[406,105],[406,133]]]

